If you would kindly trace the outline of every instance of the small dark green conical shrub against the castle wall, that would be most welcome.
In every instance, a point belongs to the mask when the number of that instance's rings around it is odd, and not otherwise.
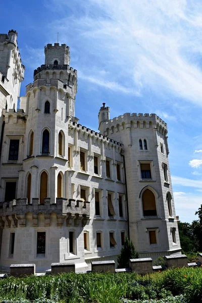
[[[121,254],[118,255],[118,268],[129,268],[129,260],[137,258],[138,253],[135,251],[132,241],[125,238],[124,247],[121,249]]]

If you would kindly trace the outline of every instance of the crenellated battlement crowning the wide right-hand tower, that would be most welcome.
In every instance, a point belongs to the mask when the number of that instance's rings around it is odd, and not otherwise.
[[[156,114],[125,113],[107,122],[103,122],[102,131],[104,134],[114,132],[114,129],[124,128],[154,128],[162,133],[167,133],[167,124]]]

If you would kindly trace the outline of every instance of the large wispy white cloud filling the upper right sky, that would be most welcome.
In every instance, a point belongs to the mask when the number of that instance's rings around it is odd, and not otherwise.
[[[201,54],[201,3],[75,0],[76,3],[82,15],[75,5],[71,17],[54,20],[51,27],[62,32],[64,40],[74,28],[74,37],[82,49],[94,54],[100,66],[113,67],[108,79],[91,74],[86,81],[92,82],[93,78],[93,83],[109,89],[115,89],[114,82],[120,83],[125,93],[134,90],[140,94],[143,87],[158,92],[163,89],[202,106],[202,73],[197,61]],[[56,0],[54,4],[58,8]],[[69,9],[67,1],[61,1],[61,6],[64,13],[65,8]]]

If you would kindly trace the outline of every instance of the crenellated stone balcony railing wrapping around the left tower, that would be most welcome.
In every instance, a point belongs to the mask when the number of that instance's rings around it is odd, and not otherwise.
[[[31,220],[33,227],[38,226],[38,221],[44,226],[50,226],[51,222],[57,221],[57,226],[66,225],[82,226],[87,223],[90,216],[90,203],[75,199],[56,198],[56,203],[51,204],[51,198],[44,198],[44,204],[39,204],[38,198],[33,198],[28,204],[27,198],[0,203],[0,225],[2,227],[21,227]],[[41,223],[40,223],[41,224]]]

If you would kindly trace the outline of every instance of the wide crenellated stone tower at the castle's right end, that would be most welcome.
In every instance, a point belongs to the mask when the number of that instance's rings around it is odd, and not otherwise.
[[[129,233],[139,255],[179,253],[167,124],[155,114],[130,113],[98,122],[100,133],[124,145]]]

